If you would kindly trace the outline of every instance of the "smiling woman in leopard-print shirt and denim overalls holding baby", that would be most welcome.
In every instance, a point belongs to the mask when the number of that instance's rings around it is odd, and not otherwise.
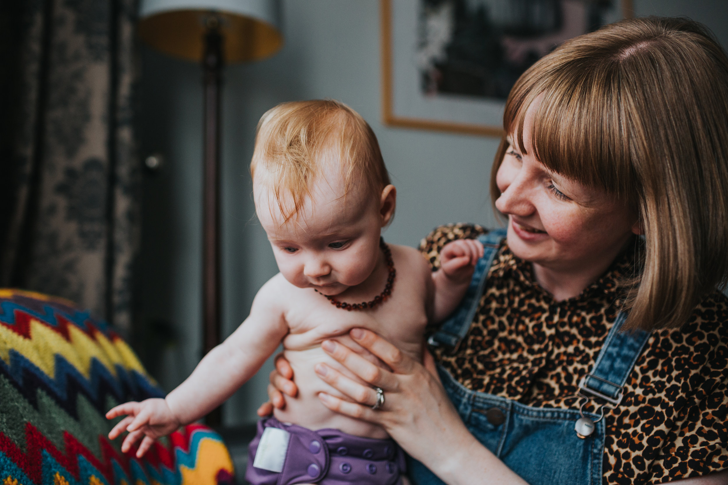
[[[422,246],[437,268],[451,239],[486,244],[469,296],[432,329],[438,370],[354,330],[392,372],[324,342],[361,380],[320,364],[351,398],[323,404],[383,425],[416,484],[726,483],[725,53],[689,20],[608,25],[526,71],[504,124],[491,194],[505,239],[451,225]]]

